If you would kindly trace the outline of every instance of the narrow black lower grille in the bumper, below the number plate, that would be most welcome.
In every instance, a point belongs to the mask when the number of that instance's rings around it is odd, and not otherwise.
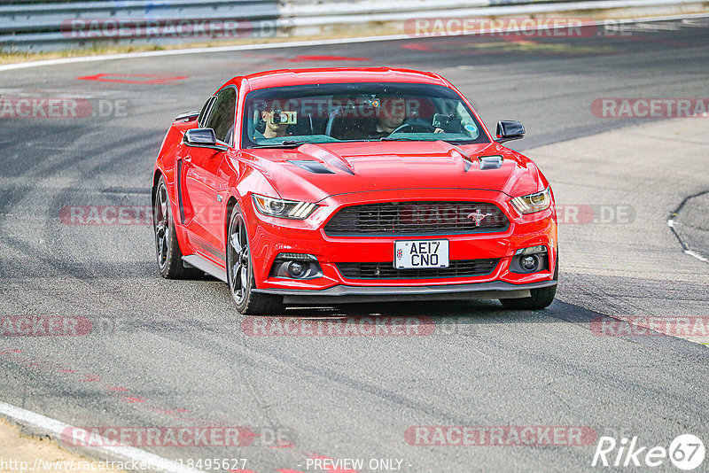
[[[425,279],[429,277],[467,277],[488,275],[499,259],[455,260],[448,268],[397,269],[393,263],[337,263],[340,274],[347,279]]]

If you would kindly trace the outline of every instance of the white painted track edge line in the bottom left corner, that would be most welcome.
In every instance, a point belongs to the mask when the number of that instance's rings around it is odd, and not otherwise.
[[[0,401],[0,415],[10,418],[11,420],[33,427],[35,430],[40,430],[46,433],[51,438],[59,439],[61,434],[66,429],[74,429],[73,426],[59,422],[50,417],[37,414],[21,407],[15,407]],[[153,471],[163,471],[165,473],[198,473],[199,469],[191,469],[180,465],[175,461],[162,458],[159,455],[144,452],[133,446],[94,446],[82,449],[88,454],[98,457],[108,457],[117,461],[135,461],[136,464],[144,463],[150,465]]]

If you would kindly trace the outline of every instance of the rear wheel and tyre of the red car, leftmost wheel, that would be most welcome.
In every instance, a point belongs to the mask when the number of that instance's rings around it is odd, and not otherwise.
[[[197,268],[184,266],[183,253],[177,241],[175,220],[165,178],[160,176],[155,192],[152,194],[152,230],[155,234],[155,253],[158,259],[160,275],[166,279],[191,279],[202,272]]]

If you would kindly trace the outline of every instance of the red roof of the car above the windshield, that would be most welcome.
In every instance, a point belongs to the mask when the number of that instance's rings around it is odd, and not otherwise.
[[[393,67],[321,67],[311,69],[277,69],[235,77],[229,84],[247,81],[249,89],[266,89],[288,85],[337,82],[409,82],[450,87],[439,74]]]

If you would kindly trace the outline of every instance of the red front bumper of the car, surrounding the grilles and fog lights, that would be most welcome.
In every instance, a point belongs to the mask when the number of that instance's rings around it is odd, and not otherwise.
[[[424,197],[425,196],[425,197]],[[510,221],[500,232],[466,235],[420,236],[327,236],[323,227],[332,215],[347,205],[416,200],[470,200],[499,206]],[[509,204],[510,197],[491,190],[387,190],[331,196],[305,221],[287,221],[258,213],[244,205],[250,235],[256,291],[281,294],[285,301],[337,299],[347,302],[412,297],[422,299],[459,299],[465,293],[476,299],[527,297],[530,289],[554,285],[557,261],[557,219],[554,204],[549,209],[522,215]],[[250,201],[250,199],[249,199]],[[250,203],[250,202],[249,202]],[[347,279],[337,263],[392,261],[394,242],[401,240],[448,239],[450,260],[499,259],[486,275],[416,279]],[[544,245],[548,266],[535,273],[510,271],[510,261],[518,249]],[[322,277],[300,280],[269,276],[277,255],[282,252],[316,256]],[[521,294],[521,295],[520,295]],[[451,297],[452,296],[452,297]]]

